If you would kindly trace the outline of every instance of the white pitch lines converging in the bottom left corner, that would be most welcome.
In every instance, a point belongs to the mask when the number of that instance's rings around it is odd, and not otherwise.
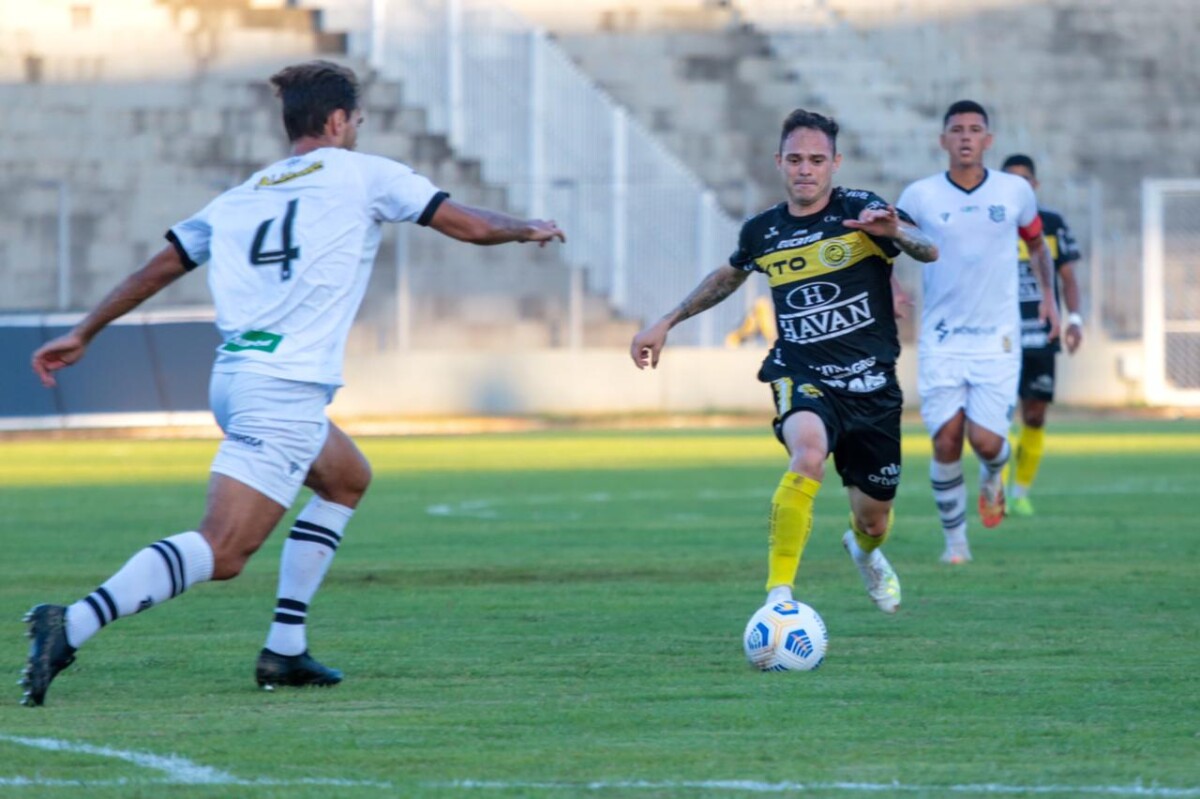
[[[71,752],[74,755],[95,755],[115,761],[125,761],[133,765],[158,771],[162,776],[150,780],[88,780],[89,786],[122,786],[122,785],[236,785],[236,786],[342,786],[342,787],[367,787],[367,788],[391,788],[389,782],[373,782],[362,780],[245,780],[234,776],[228,771],[221,771],[208,765],[200,765],[179,755],[154,755],[151,752],[134,752],[109,746],[92,746],[91,744],[77,744],[58,738],[24,738],[20,735],[0,734],[0,743],[17,744],[30,749],[40,749],[47,752]],[[0,776],[0,786],[5,787],[40,787],[40,786],[77,786],[83,781],[77,780],[52,780],[43,777],[5,777]]]

